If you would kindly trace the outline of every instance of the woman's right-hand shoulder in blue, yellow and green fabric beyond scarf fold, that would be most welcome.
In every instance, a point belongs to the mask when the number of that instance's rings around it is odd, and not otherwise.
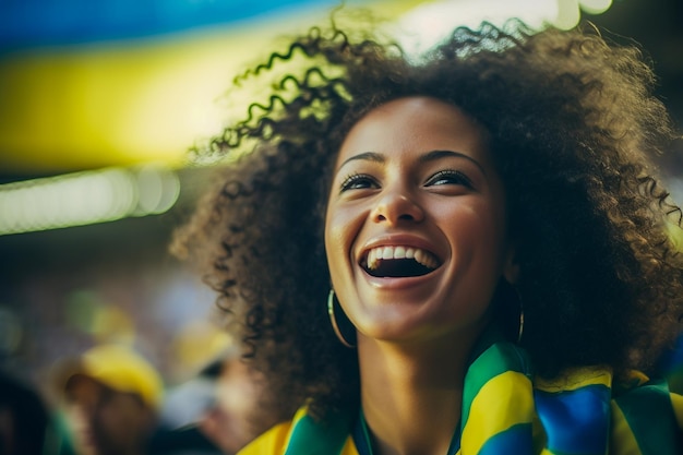
[[[537,381],[535,404],[550,447],[577,453],[577,447],[590,446],[603,453],[608,443],[610,454],[658,455],[683,448],[683,396],[670,392],[666,381],[642,373],[614,383],[608,369],[576,369]]]

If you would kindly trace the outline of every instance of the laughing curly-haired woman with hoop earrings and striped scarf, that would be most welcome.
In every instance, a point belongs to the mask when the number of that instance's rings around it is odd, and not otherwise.
[[[681,451],[646,375],[683,304],[652,73],[510,25],[419,60],[315,28],[245,73],[290,71],[176,242],[271,380],[284,422],[244,454]]]

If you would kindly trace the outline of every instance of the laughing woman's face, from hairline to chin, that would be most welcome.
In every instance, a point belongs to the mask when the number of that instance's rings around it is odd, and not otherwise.
[[[477,334],[512,280],[505,194],[481,131],[428,97],[390,101],[342,144],[325,219],[332,283],[359,332]]]

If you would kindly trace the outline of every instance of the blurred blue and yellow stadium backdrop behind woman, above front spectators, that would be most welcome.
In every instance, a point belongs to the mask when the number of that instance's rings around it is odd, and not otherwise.
[[[327,0],[0,1],[0,362],[37,384],[103,342],[139,349],[167,384],[229,339],[215,296],[168,253],[212,166],[187,151],[244,105],[233,75],[278,36],[325,22]],[[680,0],[347,1],[409,50],[454,25],[588,19],[650,56],[683,125]],[[276,41],[275,41],[276,43]],[[683,200],[680,144],[662,158]]]

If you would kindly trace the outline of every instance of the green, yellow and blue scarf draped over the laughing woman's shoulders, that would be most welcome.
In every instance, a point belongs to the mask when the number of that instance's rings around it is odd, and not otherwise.
[[[612,386],[607,369],[534,378],[526,352],[488,345],[465,376],[456,455],[676,455],[683,453],[683,396],[634,374]],[[239,455],[372,455],[362,415],[325,422],[301,408]]]

